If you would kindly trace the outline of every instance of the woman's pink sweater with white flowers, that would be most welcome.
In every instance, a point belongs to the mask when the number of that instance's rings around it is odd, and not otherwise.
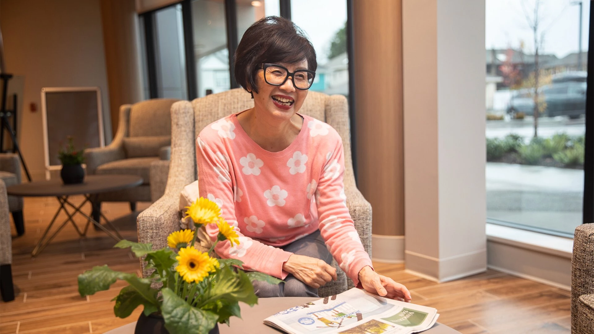
[[[358,285],[359,271],[372,264],[346,207],[342,140],[330,125],[301,116],[301,131],[281,152],[258,146],[236,114],[201,131],[200,196],[219,204],[239,235],[239,245],[219,242],[215,251],[244,261],[244,269],[284,279],[282,266],[292,253],[277,247],[320,229],[340,268]],[[214,241],[216,225],[206,231]]]

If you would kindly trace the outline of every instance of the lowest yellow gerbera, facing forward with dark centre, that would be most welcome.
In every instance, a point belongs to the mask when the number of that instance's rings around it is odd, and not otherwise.
[[[208,254],[198,251],[194,246],[179,250],[175,259],[179,263],[175,270],[188,283],[202,282],[213,271],[213,263]]]

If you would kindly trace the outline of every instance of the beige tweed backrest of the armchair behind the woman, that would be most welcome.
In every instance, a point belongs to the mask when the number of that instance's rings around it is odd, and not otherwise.
[[[244,89],[236,88],[194,99],[192,107],[195,120],[194,138],[196,138],[208,124],[229,114],[253,108],[254,100]],[[349,106],[346,97],[309,91],[299,113],[330,124],[340,134],[345,147],[345,183],[353,182],[354,184],[355,178],[350,155]]]

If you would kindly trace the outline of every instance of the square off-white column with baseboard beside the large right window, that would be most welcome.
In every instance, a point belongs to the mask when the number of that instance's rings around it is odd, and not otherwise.
[[[486,270],[485,2],[403,0],[405,263]]]

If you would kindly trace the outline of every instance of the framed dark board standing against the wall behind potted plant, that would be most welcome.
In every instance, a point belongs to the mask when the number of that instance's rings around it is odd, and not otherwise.
[[[62,168],[58,151],[68,136],[77,149],[105,146],[99,87],[44,87],[41,105],[46,179]]]

